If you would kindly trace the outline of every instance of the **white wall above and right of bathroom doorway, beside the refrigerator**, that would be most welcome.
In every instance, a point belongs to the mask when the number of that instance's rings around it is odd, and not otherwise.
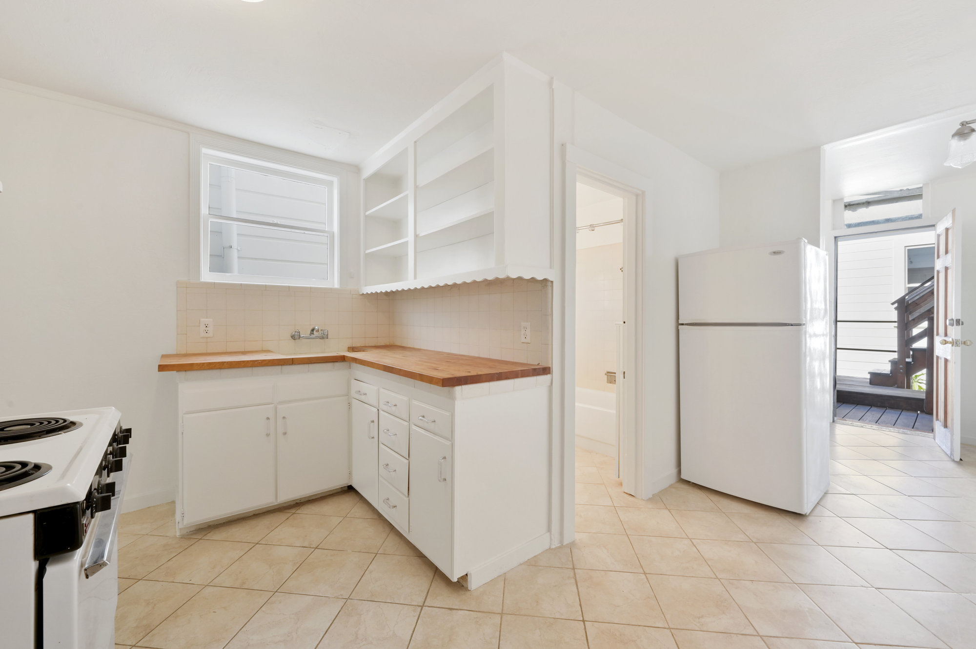
[[[641,314],[645,341],[643,478],[650,495],[679,474],[675,257],[718,245],[718,172],[583,95],[557,92],[555,107],[557,145],[575,144],[653,185],[645,224]]]

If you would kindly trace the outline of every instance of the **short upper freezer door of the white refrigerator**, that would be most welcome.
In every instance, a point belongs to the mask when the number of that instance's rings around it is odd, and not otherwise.
[[[678,257],[678,322],[804,322],[806,247],[797,239]]]

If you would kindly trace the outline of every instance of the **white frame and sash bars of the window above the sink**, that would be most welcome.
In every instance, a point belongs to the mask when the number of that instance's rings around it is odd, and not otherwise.
[[[340,268],[343,245],[343,216],[346,212],[346,166],[340,163],[313,158],[261,144],[230,137],[206,137],[191,135],[191,173],[195,182],[191,191],[191,254],[190,277],[202,282],[230,284],[256,284],[271,286],[341,286]],[[329,278],[309,280],[263,275],[214,273],[210,271],[210,220],[226,220],[209,213],[210,165],[218,164],[249,172],[271,173],[284,178],[326,186],[329,188],[327,224],[325,230],[295,231],[315,232],[329,236]],[[245,219],[246,221],[246,219]],[[258,221],[256,224],[267,225]],[[273,227],[273,224],[271,224]],[[285,228],[292,230],[293,228]],[[195,253],[192,252],[195,250]]]

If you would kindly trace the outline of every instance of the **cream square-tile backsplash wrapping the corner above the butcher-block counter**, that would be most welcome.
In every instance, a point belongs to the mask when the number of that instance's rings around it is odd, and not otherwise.
[[[177,353],[342,352],[397,344],[523,363],[551,363],[552,283],[503,279],[360,295],[355,288],[177,283]],[[200,319],[214,321],[201,338]],[[521,323],[531,341],[519,342]],[[295,329],[327,340],[292,340]]]

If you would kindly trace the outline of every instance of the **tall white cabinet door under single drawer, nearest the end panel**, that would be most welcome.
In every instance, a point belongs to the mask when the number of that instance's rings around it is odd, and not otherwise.
[[[410,541],[442,571],[451,568],[451,442],[410,429]]]

